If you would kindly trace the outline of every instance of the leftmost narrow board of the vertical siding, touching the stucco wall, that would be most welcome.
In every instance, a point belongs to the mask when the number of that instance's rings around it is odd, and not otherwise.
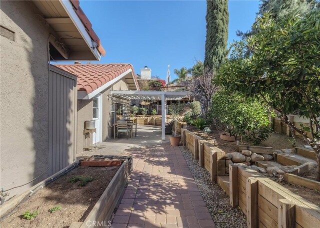
[[[49,72],[49,88],[48,88],[48,93],[49,93],[49,120],[48,120],[48,164],[49,164],[49,176],[51,176],[52,173],[52,77],[53,77],[53,72]]]

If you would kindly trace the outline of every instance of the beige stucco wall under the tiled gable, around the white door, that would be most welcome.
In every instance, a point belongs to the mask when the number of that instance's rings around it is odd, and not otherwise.
[[[112,90],[127,90],[128,85],[125,81],[120,80],[111,87],[102,92],[102,142],[107,140],[113,128],[110,126],[111,118],[111,99],[108,99],[108,94]],[[83,132],[84,122],[86,120],[92,120],[92,99],[90,100],[78,100],[77,111],[77,153],[83,151]]]

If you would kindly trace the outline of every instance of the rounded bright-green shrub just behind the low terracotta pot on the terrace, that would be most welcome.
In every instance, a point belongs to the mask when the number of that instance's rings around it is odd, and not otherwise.
[[[259,102],[239,94],[230,96],[218,91],[212,97],[211,118],[222,124],[230,136],[239,135],[254,145],[268,138],[269,114]]]

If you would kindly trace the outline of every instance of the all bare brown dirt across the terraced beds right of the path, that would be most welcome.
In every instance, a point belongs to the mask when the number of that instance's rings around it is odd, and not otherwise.
[[[231,153],[236,151],[236,142],[227,142],[227,141],[221,140],[219,131],[213,131],[211,134],[204,134],[202,133],[202,131],[194,128],[194,126],[189,126],[188,130],[212,144],[213,144],[213,137],[215,137],[215,140],[216,140],[215,145],[221,150],[223,150],[224,152]],[[285,134],[274,132],[274,133],[271,133],[269,138],[264,142],[262,142],[260,146],[272,147],[273,150],[286,149],[286,148],[291,149],[292,145],[288,139],[289,138]],[[237,138],[236,140],[240,141],[240,138]],[[305,144],[307,144],[305,141],[303,141],[302,139],[296,138],[296,144],[295,144],[296,146],[302,146]],[[265,175],[265,176],[277,182],[278,184],[284,186],[291,192],[301,196],[305,200],[320,207],[320,192],[315,191],[313,189],[307,189],[302,186],[292,185],[285,181],[279,181],[278,177],[273,177],[270,175]],[[315,180],[315,171],[306,172],[301,176],[311,180]]]

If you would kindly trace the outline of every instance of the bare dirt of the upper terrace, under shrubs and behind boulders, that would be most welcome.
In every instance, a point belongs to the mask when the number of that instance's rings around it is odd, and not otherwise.
[[[196,135],[202,137],[203,139],[207,140],[209,143],[213,144],[213,137],[215,137],[215,145],[223,150],[224,152],[235,152],[236,151],[236,142],[227,142],[220,139],[220,132],[219,131],[212,131],[211,134],[204,134],[202,131],[196,129],[194,126],[189,126],[188,130],[191,132],[194,132]],[[291,149],[292,145],[290,141],[288,140],[289,137],[287,137],[285,134],[280,133],[271,133],[269,138],[261,143],[260,146],[262,147],[272,147],[273,150],[278,149]],[[237,137],[236,140],[239,140],[239,144],[241,144],[240,137]],[[296,138],[296,146],[302,146],[307,144],[304,140]]]

